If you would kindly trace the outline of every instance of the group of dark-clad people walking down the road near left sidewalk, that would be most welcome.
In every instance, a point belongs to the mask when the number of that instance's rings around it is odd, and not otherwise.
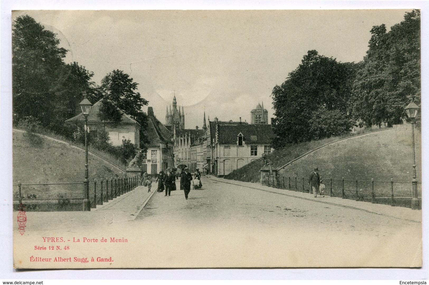
[[[163,192],[165,190],[165,196],[170,196],[171,191],[176,190],[176,179],[178,177],[180,177],[180,189],[184,191],[185,199],[188,199],[191,184],[194,189],[200,189],[202,187],[199,168],[196,168],[194,177],[190,174],[189,168],[187,167],[181,171],[180,176],[176,174],[175,171],[172,171],[171,168],[167,168],[166,173],[160,171],[155,181],[158,183],[157,192]],[[151,192],[151,176],[148,175],[146,171],[142,174],[142,185],[148,186],[148,192]]]

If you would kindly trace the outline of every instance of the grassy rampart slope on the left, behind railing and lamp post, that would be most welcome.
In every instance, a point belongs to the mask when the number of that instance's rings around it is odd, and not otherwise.
[[[64,183],[82,182],[85,175],[85,151],[43,138],[14,131],[13,183]],[[94,155],[88,156],[90,196],[94,179],[123,176],[123,172]],[[24,197],[34,194],[36,198],[82,197],[82,185],[22,186]],[[14,186],[14,197],[18,190]]]

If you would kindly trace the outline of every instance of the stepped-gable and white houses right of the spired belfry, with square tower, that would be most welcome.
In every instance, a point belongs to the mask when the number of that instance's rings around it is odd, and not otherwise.
[[[251,111],[251,124],[217,117],[206,123],[204,113],[202,129],[173,129],[175,164],[221,177],[261,159],[263,153],[271,153],[274,138],[267,113],[258,104]]]

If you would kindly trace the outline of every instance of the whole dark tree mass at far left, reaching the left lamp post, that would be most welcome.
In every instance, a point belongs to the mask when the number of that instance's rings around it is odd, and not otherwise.
[[[12,105],[14,122],[31,116],[63,135],[64,120],[76,115],[81,91],[95,86],[92,72],[78,63],[65,64],[67,50],[56,35],[28,15],[12,29]]]

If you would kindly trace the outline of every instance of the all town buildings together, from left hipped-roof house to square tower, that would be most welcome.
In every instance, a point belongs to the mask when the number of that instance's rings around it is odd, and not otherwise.
[[[100,120],[101,104],[101,100],[96,102],[88,116],[86,129],[90,137],[97,138],[103,130],[109,133],[114,146],[130,140],[140,149],[142,126],[127,114],[122,115],[120,122]],[[251,111],[251,124],[241,118],[239,122],[220,121],[217,117],[206,121],[204,114],[201,129],[184,129],[184,109],[177,110],[175,97],[172,105],[172,110],[167,108],[165,124],[154,115],[153,107],[148,107],[148,126],[144,131],[148,141],[141,150],[142,171],[157,174],[185,165],[191,171],[199,168],[204,173],[224,176],[272,151],[272,125],[268,123],[267,110],[260,104]],[[85,117],[81,113],[66,123],[81,125]]]

